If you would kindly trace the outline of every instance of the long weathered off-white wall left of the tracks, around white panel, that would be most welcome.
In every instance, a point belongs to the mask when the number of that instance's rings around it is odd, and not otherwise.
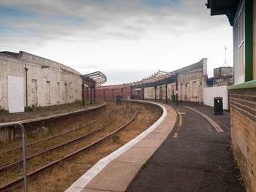
[[[23,77],[23,104],[26,106],[28,70],[28,105],[66,104],[81,99],[80,73],[55,61],[20,52],[17,57],[0,53],[0,107],[9,110],[8,77]],[[15,112],[15,111],[12,111]]]

